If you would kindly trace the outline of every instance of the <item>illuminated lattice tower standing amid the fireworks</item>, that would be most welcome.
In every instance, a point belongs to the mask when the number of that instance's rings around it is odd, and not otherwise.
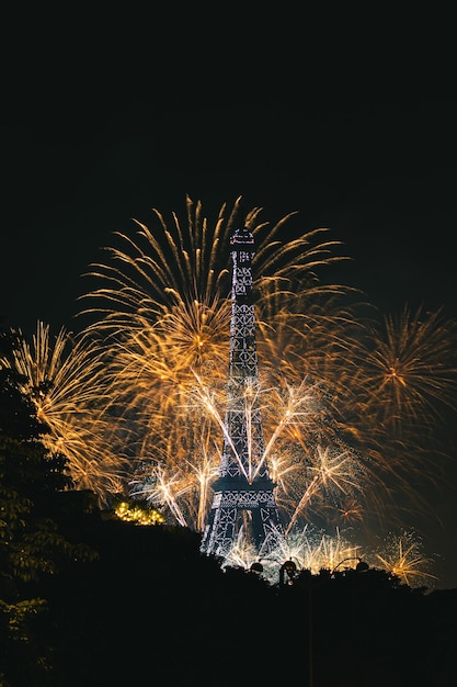
[[[261,410],[252,297],[254,237],[237,229],[230,238],[230,361],[219,476],[201,550],[225,556],[241,534],[265,555],[284,537],[269,476]]]

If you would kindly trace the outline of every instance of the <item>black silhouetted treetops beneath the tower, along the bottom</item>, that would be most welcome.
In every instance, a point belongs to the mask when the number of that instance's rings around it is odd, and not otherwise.
[[[71,527],[70,527],[71,522]],[[47,583],[67,687],[155,684],[453,687],[457,590],[413,589],[380,570],[298,573],[292,584],[221,570],[185,528],[94,510],[64,528],[100,558]]]

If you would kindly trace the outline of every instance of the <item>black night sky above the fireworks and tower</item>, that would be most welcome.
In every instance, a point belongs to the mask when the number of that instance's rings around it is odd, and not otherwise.
[[[126,38],[119,20],[102,35],[79,16],[71,40],[60,31],[50,43],[32,19],[15,30],[27,59],[3,79],[2,326],[77,330],[81,275],[111,233],[129,232],[132,217],[148,224],[151,207],[183,214],[185,194],[209,216],[239,195],[272,221],[298,211],[304,228],[343,241],[353,260],[341,281],[385,312],[410,303],[457,316],[457,100],[444,33],[431,41],[422,27],[405,42],[396,24],[385,41],[335,44],[319,25],[319,38],[307,26],[288,41],[272,16],[254,42],[245,26],[220,42],[208,31],[205,49],[187,38],[178,58],[171,26],[167,41],[157,22]],[[450,488],[436,497],[446,587],[457,587],[455,504]]]

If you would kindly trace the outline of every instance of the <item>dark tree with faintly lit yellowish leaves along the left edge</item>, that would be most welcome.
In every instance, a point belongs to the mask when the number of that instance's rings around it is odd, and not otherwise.
[[[2,349],[12,339],[0,335]],[[52,652],[43,632],[48,604],[39,582],[70,560],[91,560],[89,547],[71,543],[53,517],[56,496],[71,487],[65,459],[45,449],[46,431],[19,376],[0,369],[0,685],[38,685],[50,675]],[[41,679],[45,682],[39,682]]]

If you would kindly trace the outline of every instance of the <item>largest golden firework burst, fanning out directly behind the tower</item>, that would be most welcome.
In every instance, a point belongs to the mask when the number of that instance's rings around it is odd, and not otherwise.
[[[324,418],[331,397],[343,394],[347,379],[344,365],[335,370],[341,360],[336,351],[349,347],[350,326],[356,328],[344,304],[351,290],[322,284],[317,274],[344,259],[332,255],[340,244],[327,239],[327,229],[294,238],[288,223],[295,213],[273,226],[261,221],[259,209],[242,215],[240,199],[231,210],[222,206],[213,228],[202,205],[190,199],[187,226],[174,214],[171,227],[158,211],[155,215],[155,230],[136,223],[135,240],[117,235],[126,248],[107,249],[108,263],[94,266],[90,275],[103,285],[83,296],[96,305],[82,311],[95,316],[88,334],[107,341],[111,393],[123,399],[129,426],[137,428],[129,443],[136,447],[141,478],[145,465],[150,466],[142,496],[181,523],[199,529],[205,521],[210,504],[207,475],[217,474],[225,431],[227,245],[233,227],[242,223],[259,244],[254,271],[260,277],[254,285],[262,383],[256,401],[267,437],[262,460],[274,464],[274,476],[283,485],[278,498],[286,510],[294,513],[297,494],[300,503],[304,491],[312,492],[312,504],[322,510],[312,447],[317,436],[320,444],[335,441],[336,426]],[[253,399],[248,394],[247,404],[249,417]],[[329,455],[330,448],[322,450]],[[138,480],[133,483],[139,495]],[[307,514],[310,504],[308,498]],[[302,502],[300,513],[305,514]]]

